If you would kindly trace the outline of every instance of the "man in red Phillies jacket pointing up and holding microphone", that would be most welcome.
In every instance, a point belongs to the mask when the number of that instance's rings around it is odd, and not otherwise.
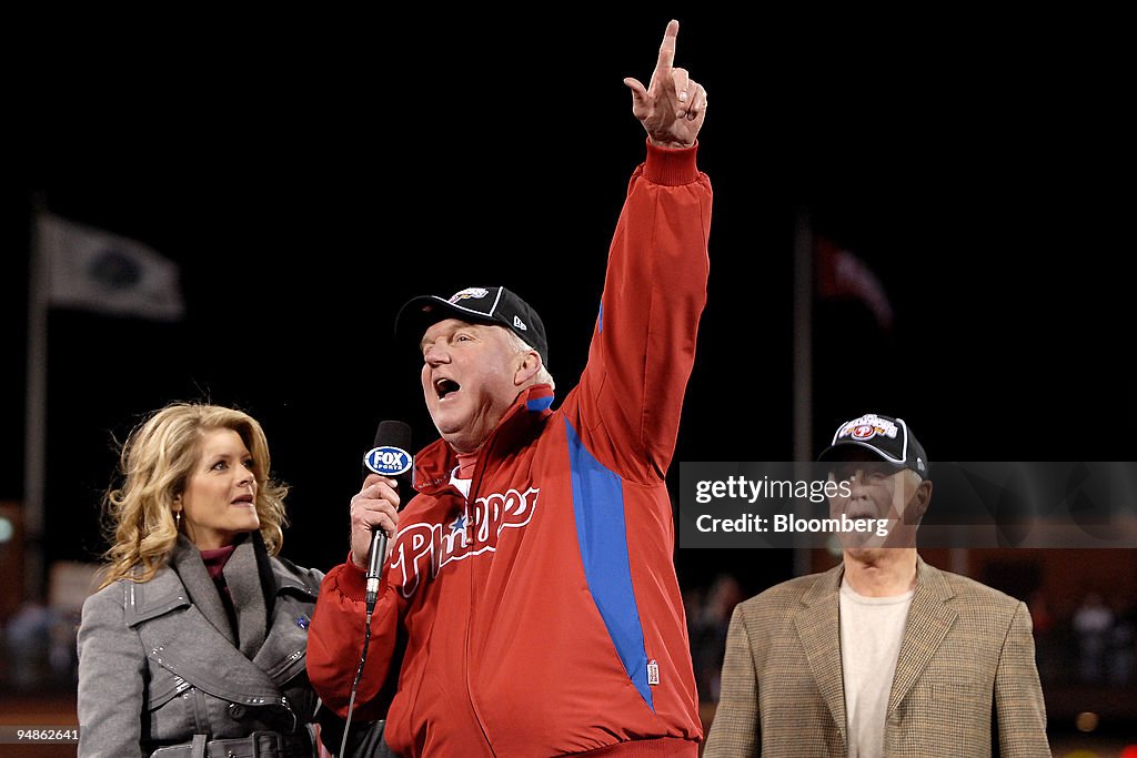
[[[363,648],[373,526],[392,535],[352,719],[402,756],[689,756],[703,739],[665,474],[706,302],[711,183],[696,166],[706,91],[673,67],[667,25],[632,113],[647,157],[612,240],[588,365],[553,409],[537,313],[501,286],[412,299],[441,439],[352,498],[308,673],[347,715]],[[402,650],[401,663],[395,655]]]

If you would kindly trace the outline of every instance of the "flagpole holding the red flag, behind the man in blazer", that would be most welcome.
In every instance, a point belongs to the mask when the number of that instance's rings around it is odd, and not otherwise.
[[[813,223],[808,209],[802,206],[794,230],[794,460],[798,465],[813,460],[812,403]],[[810,549],[798,544],[794,549],[794,574],[804,576],[811,570]]]

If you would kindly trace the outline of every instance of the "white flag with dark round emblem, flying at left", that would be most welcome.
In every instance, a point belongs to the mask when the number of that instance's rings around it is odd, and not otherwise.
[[[40,214],[48,305],[158,320],[185,313],[176,263],[105,230]]]

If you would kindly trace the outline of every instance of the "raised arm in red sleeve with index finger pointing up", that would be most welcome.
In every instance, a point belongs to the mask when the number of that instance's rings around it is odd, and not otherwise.
[[[588,366],[564,403],[591,456],[640,483],[671,464],[706,305],[712,192],[695,160],[706,91],[673,65],[678,31],[667,25],[648,86],[624,80],[647,159],[612,238]]]

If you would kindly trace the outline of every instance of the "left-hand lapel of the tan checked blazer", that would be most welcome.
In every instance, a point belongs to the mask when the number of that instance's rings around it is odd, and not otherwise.
[[[802,597],[802,603],[806,607],[794,617],[794,624],[821,697],[840,731],[841,741],[847,743],[845,688],[841,684],[841,636],[838,626],[838,589],[843,570],[844,566],[838,565],[818,578]]]

